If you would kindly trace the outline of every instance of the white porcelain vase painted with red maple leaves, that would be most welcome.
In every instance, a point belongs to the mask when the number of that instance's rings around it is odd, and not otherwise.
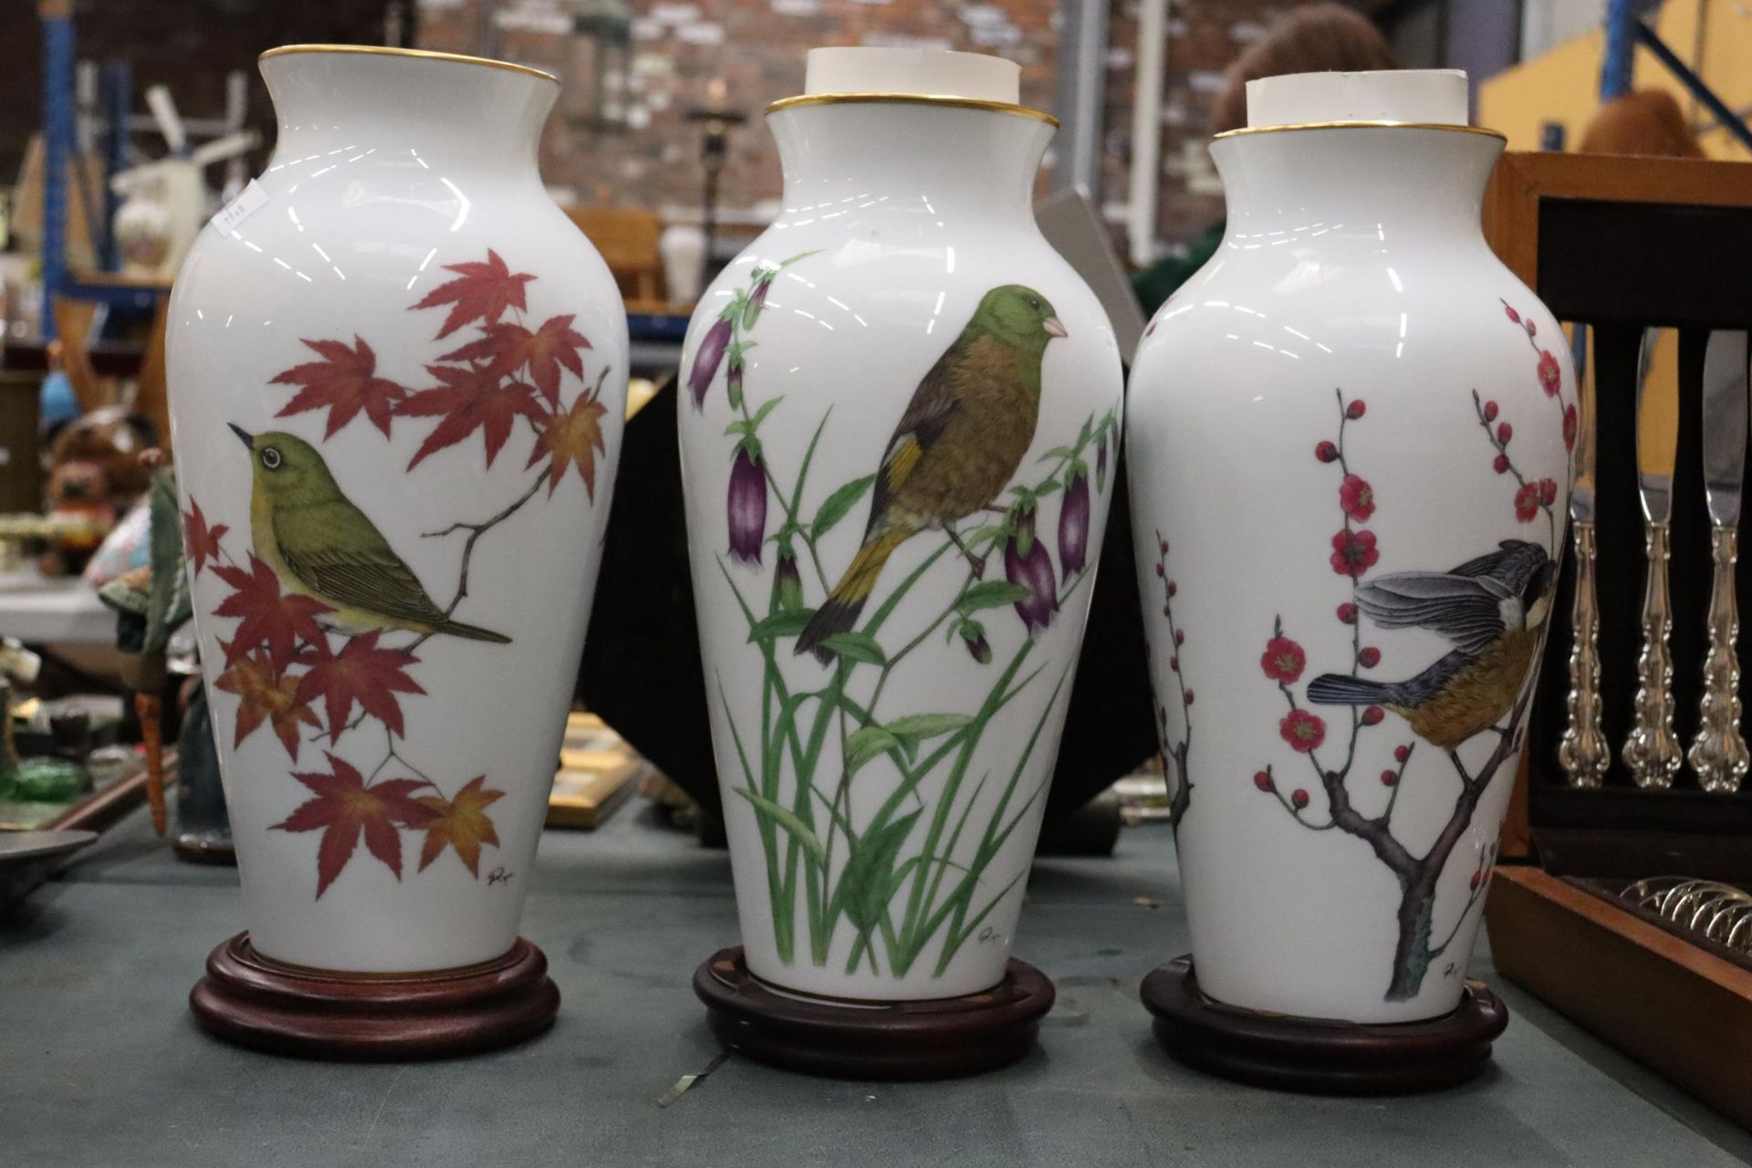
[[[261,72],[273,158],[201,231],[168,333],[251,942],[491,961],[589,622],[625,315],[536,173],[552,77],[315,46]]]

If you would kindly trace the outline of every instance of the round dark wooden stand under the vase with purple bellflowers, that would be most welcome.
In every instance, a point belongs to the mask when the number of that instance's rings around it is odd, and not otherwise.
[[[1023,961],[986,993],[936,1002],[836,1002],[774,989],[720,949],[694,970],[711,1033],[748,1058],[834,1079],[955,1079],[1014,1063],[1053,1009],[1053,982]]]

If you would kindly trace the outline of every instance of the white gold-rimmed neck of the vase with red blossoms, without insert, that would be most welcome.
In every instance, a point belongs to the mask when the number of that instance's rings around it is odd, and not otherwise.
[[[1503,144],[1463,130],[1282,130],[1211,147],[1228,200],[1225,252],[1312,242],[1482,245],[1484,184]]]

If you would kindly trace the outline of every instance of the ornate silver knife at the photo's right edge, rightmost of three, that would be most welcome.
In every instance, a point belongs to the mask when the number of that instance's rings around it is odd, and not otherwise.
[[[1740,734],[1740,611],[1734,562],[1740,553],[1740,483],[1747,469],[1747,334],[1710,333],[1703,354],[1703,490],[1710,504],[1710,651],[1703,658],[1698,737],[1685,755],[1706,792],[1738,792],[1752,769]]]

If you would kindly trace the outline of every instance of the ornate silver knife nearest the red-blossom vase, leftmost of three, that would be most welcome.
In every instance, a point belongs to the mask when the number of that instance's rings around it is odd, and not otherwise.
[[[1570,489],[1570,539],[1575,545],[1575,602],[1570,608],[1570,720],[1558,744],[1558,765],[1570,786],[1596,788],[1612,765],[1600,725],[1600,606],[1594,597],[1594,366],[1589,326],[1572,326],[1575,354],[1575,469]]]

